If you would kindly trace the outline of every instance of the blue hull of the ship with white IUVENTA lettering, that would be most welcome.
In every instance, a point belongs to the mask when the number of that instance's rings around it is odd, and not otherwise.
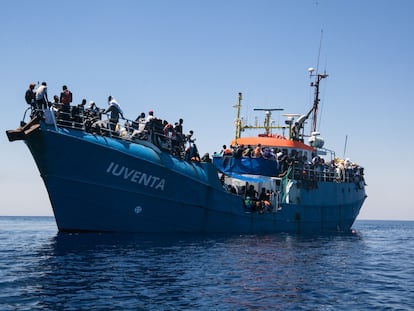
[[[344,232],[364,185],[296,188],[277,212],[248,212],[211,163],[187,162],[142,142],[45,125],[26,135],[60,231]]]

